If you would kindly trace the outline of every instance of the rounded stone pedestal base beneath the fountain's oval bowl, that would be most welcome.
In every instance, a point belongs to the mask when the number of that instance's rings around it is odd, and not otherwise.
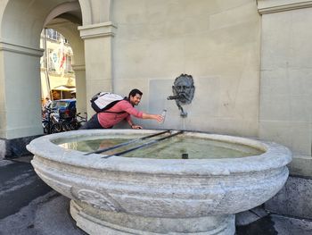
[[[70,201],[70,214],[88,234],[105,235],[234,235],[234,214],[196,218],[143,217],[107,212],[85,203]]]

